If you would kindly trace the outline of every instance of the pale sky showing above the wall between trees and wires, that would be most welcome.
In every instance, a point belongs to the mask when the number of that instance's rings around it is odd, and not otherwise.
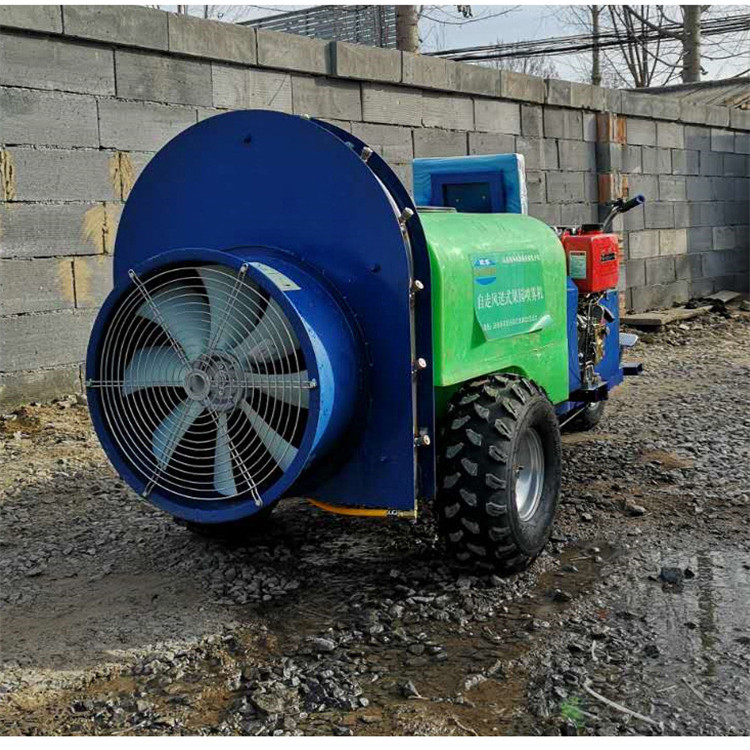
[[[173,10],[175,6],[160,6]],[[204,6],[195,6],[193,12],[201,12]],[[238,6],[224,5],[211,6],[220,9],[232,9],[227,12],[227,17],[238,13]],[[290,5],[283,2],[269,3],[265,5],[246,5],[241,11],[241,17],[257,18],[287,10],[307,8],[310,5]],[[439,8],[449,9],[452,21],[459,21],[455,12],[455,5],[425,6],[427,13],[436,17],[446,17]],[[433,51],[437,49],[450,49],[455,47],[468,47],[473,45],[493,44],[497,41],[514,42],[529,39],[545,39],[555,36],[567,36],[581,33],[581,29],[570,22],[566,15],[566,5],[472,5],[472,13],[475,21],[461,25],[439,24],[423,19],[420,22],[420,36],[423,40],[422,50]],[[676,6],[674,6],[676,8]],[[719,8],[726,9],[727,14],[745,12],[747,6],[712,6],[715,11]],[[504,16],[496,16],[502,9],[512,8],[512,12]],[[674,11],[673,16],[678,17],[679,12]],[[482,18],[487,16],[486,18]],[[493,17],[494,16],[494,17]],[[745,39],[748,39],[746,35]],[[589,55],[558,55],[551,58],[557,71],[558,78],[566,80],[585,80]],[[747,51],[734,58],[721,62],[704,61],[704,67],[708,74],[706,79],[724,78],[736,75],[750,67],[750,42],[747,42]],[[675,81],[679,83],[679,81]]]

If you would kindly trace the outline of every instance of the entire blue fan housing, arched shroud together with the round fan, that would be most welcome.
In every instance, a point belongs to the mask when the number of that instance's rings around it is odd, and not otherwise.
[[[95,428],[135,490],[201,523],[288,495],[433,496],[429,259],[405,209],[376,154],[301,117],[220,115],[152,159],[87,357]]]

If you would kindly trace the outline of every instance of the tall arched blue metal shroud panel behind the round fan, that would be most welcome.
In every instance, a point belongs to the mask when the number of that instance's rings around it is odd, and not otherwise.
[[[434,435],[431,370],[419,376],[427,384],[417,390],[419,398],[412,376],[415,354],[432,361],[429,260],[416,216],[408,222],[410,257],[383,185],[397,205],[413,208],[406,191],[379,157],[366,164],[358,154],[363,144],[343,134],[356,146],[347,148],[342,133],[303,118],[242,111],[204,120],[172,140],[146,167],[123,210],[117,287],[92,346],[128,284],[128,270],[145,272],[164,252],[197,259],[221,251],[240,262],[254,257],[248,248],[264,248],[290,266],[314,270],[335,290],[363,342],[359,380],[366,390],[349,439],[337,442],[304,491],[333,504],[409,510],[416,494],[415,413],[417,426]],[[427,287],[417,302],[427,310],[414,322],[418,336],[410,310],[415,272]],[[430,496],[434,453],[418,452],[422,491]],[[128,467],[115,463],[128,477]]]

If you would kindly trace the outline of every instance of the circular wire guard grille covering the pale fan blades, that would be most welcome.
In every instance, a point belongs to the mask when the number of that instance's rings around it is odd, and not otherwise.
[[[286,313],[246,266],[131,279],[89,386],[143,494],[261,505],[297,455],[315,386]]]

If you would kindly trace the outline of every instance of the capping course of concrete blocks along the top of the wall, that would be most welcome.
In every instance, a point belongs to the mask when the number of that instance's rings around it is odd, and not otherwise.
[[[75,16],[75,19],[74,19]],[[236,52],[225,53],[222,37],[227,50],[236,50],[237,33],[242,29],[252,37],[265,32],[235,24],[222,24],[191,18],[190,26],[200,34],[206,24],[207,35],[212,43],[194,45],[194,51],[186,51],[184,39],[176,42],[169,31],[169,19],[176,14],[169,11],[143,6],[41,6],[41,5],[0,5],[0,34],[3,30],[45,34],[49,37],[98,43],[114,47],[137,48],[162,55],[175,55],[219,62],[227,65],[255,68],[278,68],[278,65],[264,58],[260,49],[255,48],[249,57],[238,60]],[[165,36],[159,35],[137,41],[133,30],[144,21],[152,20],[154,25],[163,26]],[[74,22],[75,21],[75,22]],[[107,27],[106,35],[102,27]],[[210,28],[209,28],[210,27]],[[226,28],[223,28],[226,27]],[[151,41],[151,38],[153,41]],[[634,90],[607,89],[587,83],[543,79],[505,70],[496,70],[469,63],[454,62],[427,55],[413,55],[397,50],[353,45],[343,42],[319,41],[320,56],[317,60],[310,54],[311,40],[294,34],[273,33],[274,40],[283,40],[289,48],[290,63],[284,65],[287,71],[330,78],[361,80],[369,83],[408,86],[423,90],[519,101],[528,104],[545,104],[554,107],[580,109],[592,112],[610,112],[628,117],[643,117],[654,120],[683,122],[687,124],[726,127],[737,130],[750,130],[750,115],[730,107],[694,105],[679,98],[662,94],[641,93]],[[259,46],[259,45],[258,45]],[[299,54],[299,64],[295,65],[295,50]],[[356,59],[341,54],[355,50]],[[415,61],[416,58],[416,61]],[[396,61],[387,64],[388,61]],[[394,76],[400,70],[400,76]],[[396,74],[398,75],[398,74]]]

